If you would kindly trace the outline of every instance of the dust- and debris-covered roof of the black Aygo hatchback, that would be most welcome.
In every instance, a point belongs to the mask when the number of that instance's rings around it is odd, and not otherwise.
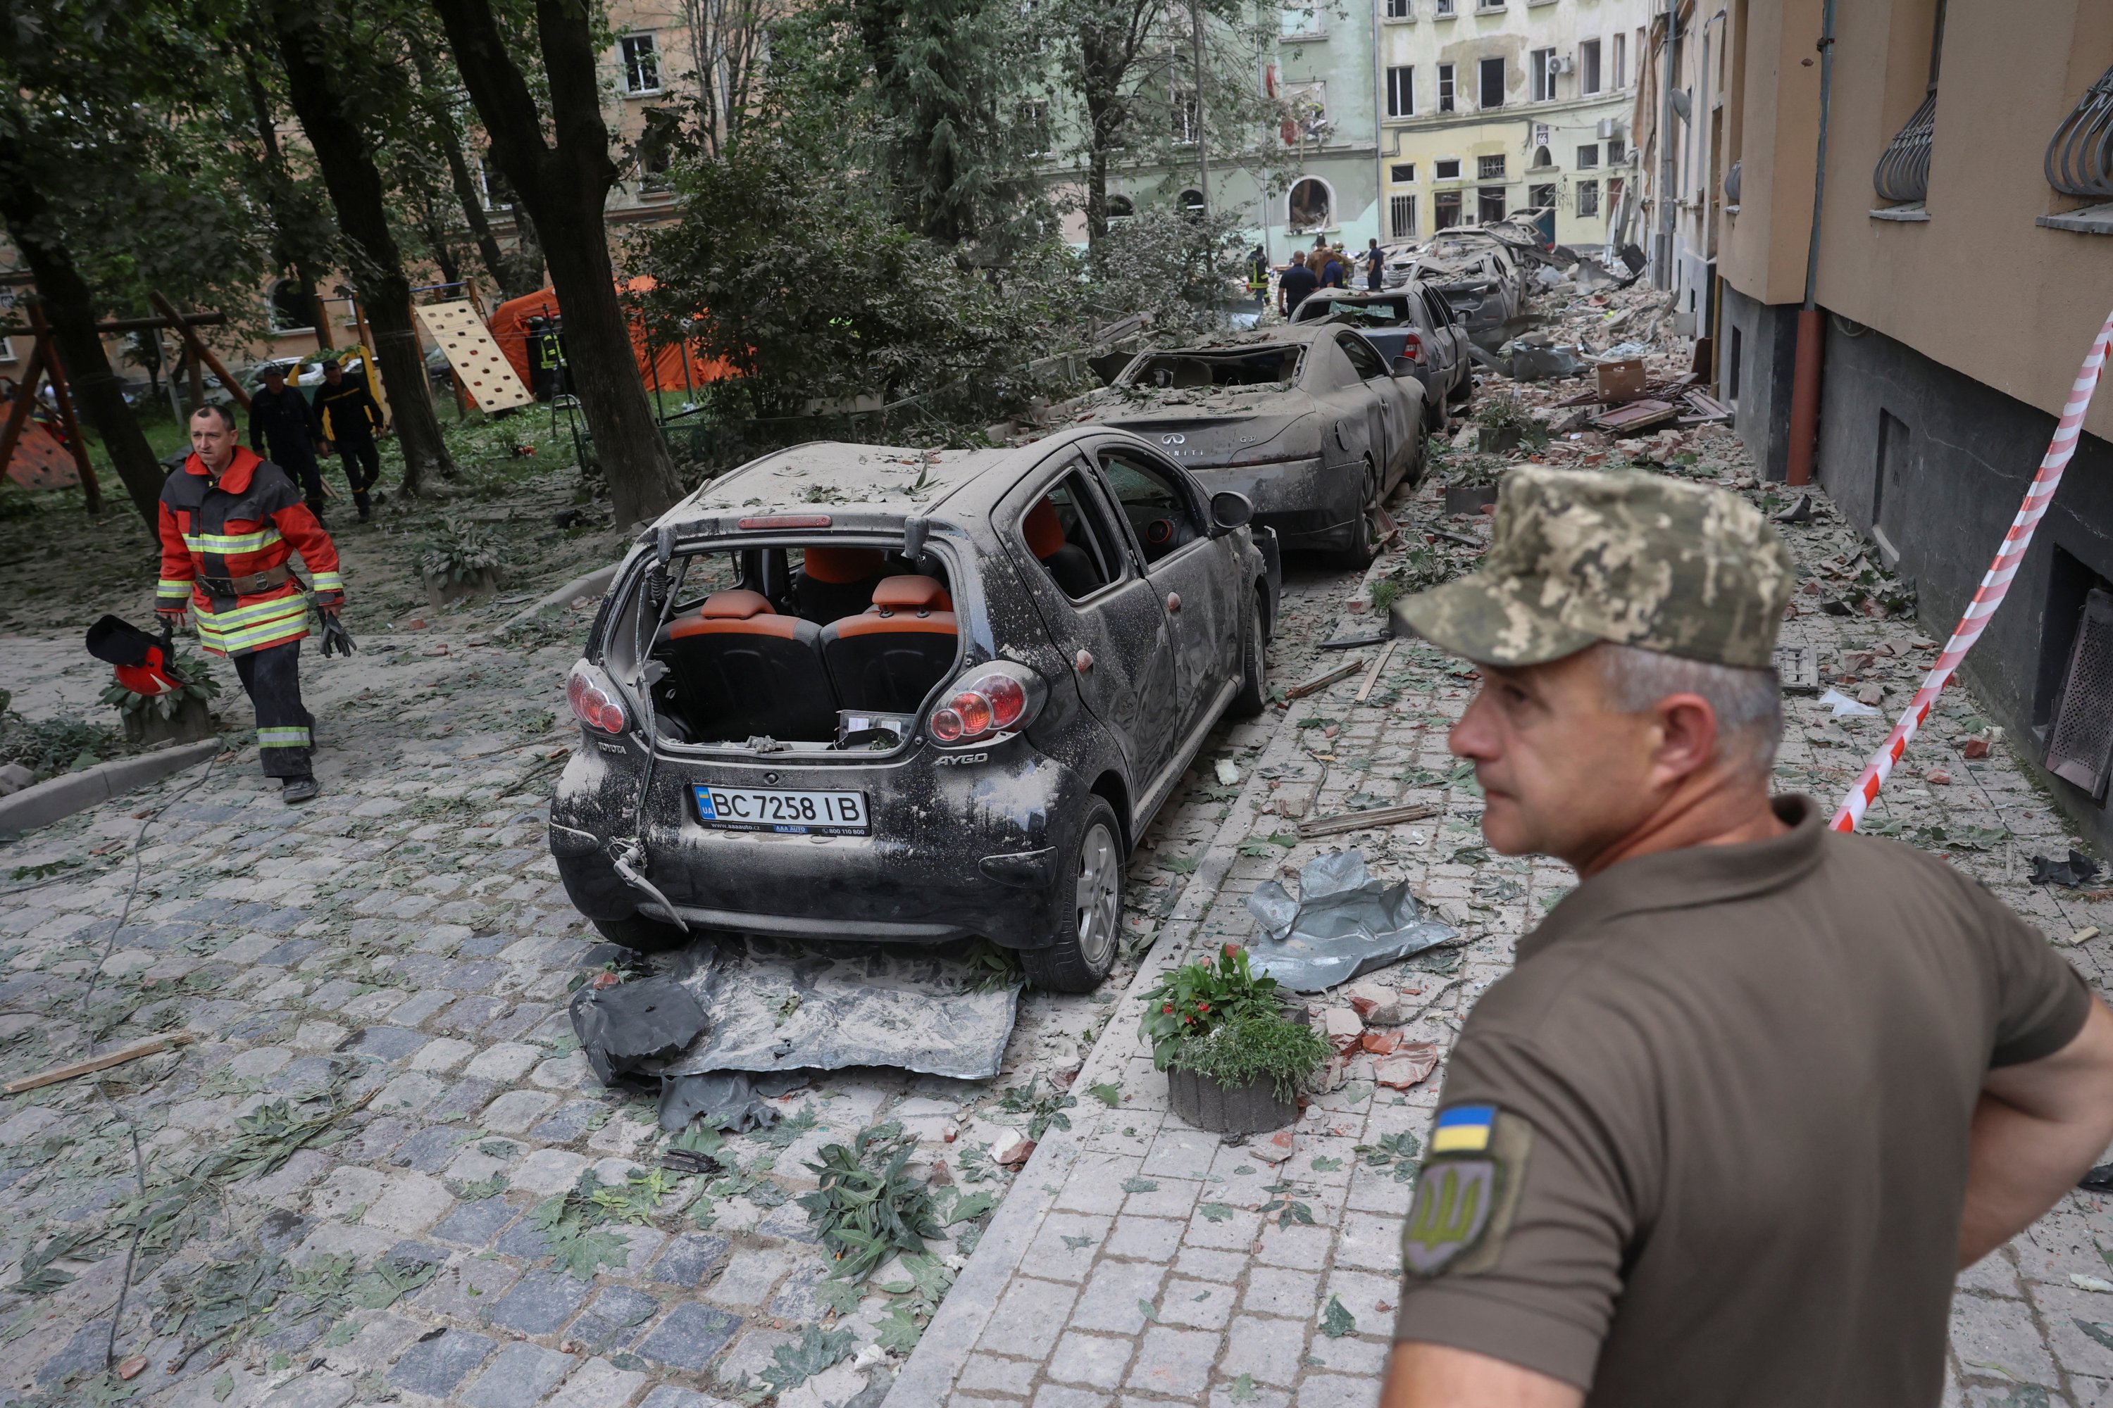
[[[752,460],[685,498],[670,519],[729,511],[799,513],[856,505],[866,513],[925,513],[1010,458],[1008,450],[915,450],[807,441]]]

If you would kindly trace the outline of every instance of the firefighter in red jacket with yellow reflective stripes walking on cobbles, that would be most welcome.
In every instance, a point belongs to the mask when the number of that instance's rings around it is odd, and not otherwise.
[[[300,703],[300,640],[308,593],[287,568],[300,553],[315,602],[344,604],[338,549],[283,469],[245,450],[235,416],[201,405],[190,418],[190,456],[161,486],[161,587],[154,614],[182,627],[199,616],[199,644],[235,659],[258,711],[258,756],[287,802],[317,794],[311,762],[315,720]]]

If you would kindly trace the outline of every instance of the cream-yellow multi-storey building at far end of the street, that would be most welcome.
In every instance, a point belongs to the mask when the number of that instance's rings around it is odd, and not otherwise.
[[[1646,0],[1376,0],[1382,239],[1555,207],[1600,245],[1633,171]]]

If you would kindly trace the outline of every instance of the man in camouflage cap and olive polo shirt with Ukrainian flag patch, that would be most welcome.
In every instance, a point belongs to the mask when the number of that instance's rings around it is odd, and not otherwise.
[[[1397,610],[1483,836],[1581,884],[1454,1047],[1386,1408],[1933,1408],[1952,1281],[2113,1138],[2113,1015],[1974,880],[1769,794],[1794,568],[1731,494],[1513,469]]]

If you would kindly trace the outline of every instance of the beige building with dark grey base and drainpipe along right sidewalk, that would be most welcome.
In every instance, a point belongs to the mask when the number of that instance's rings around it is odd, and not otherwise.
[[[1676,82],[1678,220],[1654,224],[1646,249],[1714,338],[1718,397],[1766,473],[1802,471],[1809,450],[1813,477],[1914,585],[1923,629],[1942,638],[2113,302],[2113,6],[1838,4],[1826,106],[1821,25],[1821,0],[1688,4],[1665,65],[1661,17],[1652,68]],[[1648,101],[1646,89],[1640,129]],[[1654,154],[1650,196],[1667,171]],[[1800,348],[1809,247],[1817,312]],[[1805,445],[1792,431],[1800,353],[1819,386]],[[2009,597],[1963,667],[2100,846],[2113,844],[2109,439],[2113,395],[2100,388]]]

